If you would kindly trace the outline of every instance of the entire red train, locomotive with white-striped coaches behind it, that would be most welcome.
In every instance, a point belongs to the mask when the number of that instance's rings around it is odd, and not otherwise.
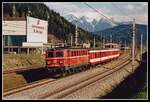
[[[109,62],[120,56],[120,49],[54,49],[46,51],[46,68],[65,75]]]

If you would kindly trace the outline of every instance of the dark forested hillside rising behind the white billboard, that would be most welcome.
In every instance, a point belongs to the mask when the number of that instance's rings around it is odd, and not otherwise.
[[[48,34],[54,35],[56,37],[56,41],[59,39],[62,42],[65,40],[70,42],[71,34],[74,36],[75,26],[60,16],[59,13],[50,10],[44,3],[15,3],[15,7],[16,18],[25,18],[28,10],[30,10],[31,17],[48,20]],[[3,3],[3,13],[4,19],[7,17],[12,17],[13,3]],[[47,18],[48,16],[49,19]],[[80,42],[88,41],[92,37],[92,34],[81,28],[79,28],[79,33],[79,38],[81,38],[79,39]],[[48,39],[49,42],[51,42],[51,40],[55,40],[51,38]]]

